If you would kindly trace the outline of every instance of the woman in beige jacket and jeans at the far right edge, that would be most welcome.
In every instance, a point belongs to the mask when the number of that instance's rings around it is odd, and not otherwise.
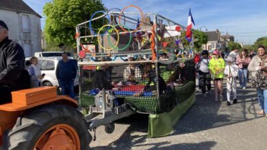
[[[257,97],[261,108],[258,113],[264,115],[267,112],[267,50],[265,46],[259,45],[257,47],[257,55],[249,63],[248,70],[252,76],[251,85],[257,89]]]

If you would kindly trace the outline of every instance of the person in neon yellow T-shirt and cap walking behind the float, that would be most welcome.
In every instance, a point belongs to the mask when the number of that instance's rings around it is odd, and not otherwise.
[[[223,76],[225,71],[225,61],[220,57],[219,51],[216,49],[212,52],[212,59],[209,61],[209,72],[214,77],[214,95],[215,102],[218,102],[218,93],[220,100],[223,100]]]

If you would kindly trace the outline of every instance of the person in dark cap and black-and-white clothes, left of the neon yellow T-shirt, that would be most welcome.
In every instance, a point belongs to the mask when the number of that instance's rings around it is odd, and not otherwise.
[[[197,72],[199,73],[199,88],[201,89],[204,97],[207,97],[207,91],[209,92],[212,89],[210,84],[211,76],[209,74],[209,52],[207,50],[203,50],[201,52],[201,59],[198,63],[196,63],[196,68],[198,68]]]

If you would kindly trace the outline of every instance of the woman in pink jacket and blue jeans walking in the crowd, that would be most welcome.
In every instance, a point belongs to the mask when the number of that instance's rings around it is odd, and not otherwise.
[[[240,89],[246,89],[246,82],[248,78],[248,66],[251,62],[249,57],[249,50],[242,49],[238,57],[236,58],[236,64],[238,65],[238,78]]]

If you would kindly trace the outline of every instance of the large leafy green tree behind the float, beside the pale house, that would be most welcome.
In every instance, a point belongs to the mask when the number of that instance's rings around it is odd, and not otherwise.
[[[88,20],[98,10],[106,10],[99,0],[53,0],[46,3],[44,36],[47,43],[75,48],[76,25]]]

